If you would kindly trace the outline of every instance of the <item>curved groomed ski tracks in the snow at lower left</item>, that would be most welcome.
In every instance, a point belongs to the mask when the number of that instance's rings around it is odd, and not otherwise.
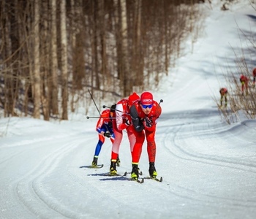
[[[69,140],[72,141],[71,139]],[[29,173],[20,178],[12,185],[13,195],[26,207],[40,218],[75,218],[74,212],[61,207],[58,201],[43,191],[41,181],[45,176],[52,172],[58,166],[59,161],[64,154],[73,150],[80,140],[74,140],[72,143],[67,142],[62,147],[53,150],[39,162]]]

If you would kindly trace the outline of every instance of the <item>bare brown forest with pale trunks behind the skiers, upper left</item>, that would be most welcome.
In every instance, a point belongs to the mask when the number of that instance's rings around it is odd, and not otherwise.
[[[88,90],[95,101],[118,101],[157,88],[184,40],[197,39],[201,3],[1,0],[0,110],[67,120],[81,101],[88,110]]]

